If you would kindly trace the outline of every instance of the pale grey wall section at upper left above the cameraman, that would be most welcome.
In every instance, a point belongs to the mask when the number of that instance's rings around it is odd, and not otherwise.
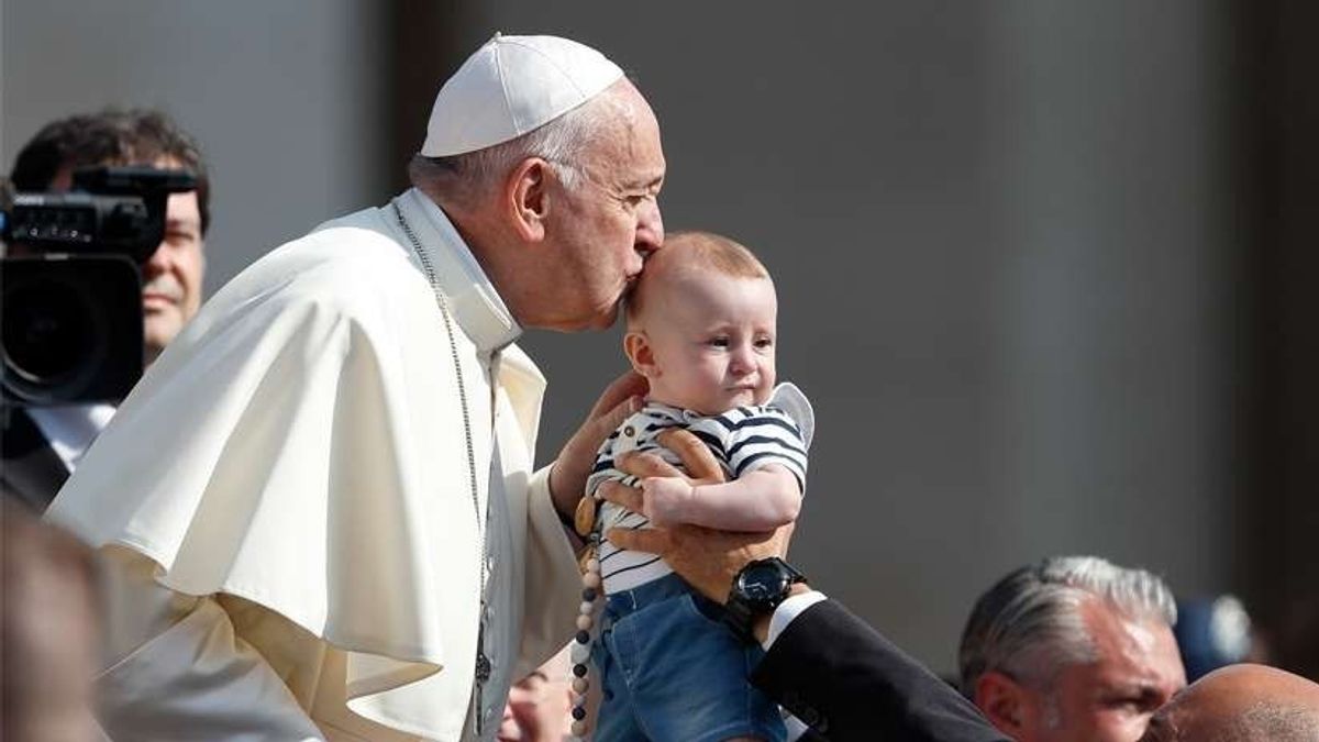
[[[200,143],[215,184],[207,294],[390,189],[384,4],[3,3],[5,173],[51,119],[111,104],[169,112]]]

